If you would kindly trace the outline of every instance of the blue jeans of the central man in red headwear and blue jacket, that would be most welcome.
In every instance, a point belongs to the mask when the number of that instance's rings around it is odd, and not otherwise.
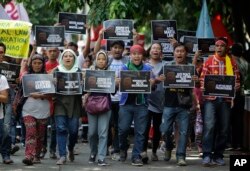
[[[121,105],[119,110],[119,141],[120,150],[128,150],[128,134],[132,121],[134,120],[134,147],[132,151],[132,160],[141,158],[145,141],[144,132],[148,122],[148,109],[145,105],[126,104]]]

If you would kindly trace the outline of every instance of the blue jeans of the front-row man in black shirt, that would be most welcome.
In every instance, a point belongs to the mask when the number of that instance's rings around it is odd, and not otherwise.
[[[189,126],[188,109],[182,107],[164,107],[160,129],[164,136],[166,149],[169,151],[171,151],[174,147],[172,136],[174,121],[176,121],[179,133],[176,159],[179,157],[185,158]]]

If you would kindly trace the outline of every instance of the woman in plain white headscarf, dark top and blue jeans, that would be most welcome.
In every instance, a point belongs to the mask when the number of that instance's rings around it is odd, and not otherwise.
[[[78,68],[77,56],[71,49],[65,49],[59,58],[59,65],[55,72],[81,72]],[[78,137],[79,117],[81,115],[81,95],[55,95],[55,123],[56,137],[59,149],[57,165],[66,163],[66,144],[68,137],[68,159],[74,161],[74,147]]]

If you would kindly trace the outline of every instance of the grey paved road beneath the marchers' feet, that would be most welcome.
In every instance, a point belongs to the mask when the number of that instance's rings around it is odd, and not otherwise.
[[[188,166],[179,167],[176,165],[176,161],[172,159],[169,162],[163,161],[163,153],[158,151],[160,161],[149,162],[149,164],[142,167],[132,166],[130,160],[127,160],[124,163],[118,161],[112,161],[110,157],[107,158],[107,162],[110,163],[110,166],[101,167],[97,164],[88,164],[89,157],[89,146],[88,144],[78,143],[76,146],[76,151],[79,152],[75,156],[75,161],[73,163],[67,162],[65,165],[57,166],[56,160],[49,158],[48,153],[45,156],[45,159],[42,160],[42,164],[36,164],[33,166],[25,166],[22,163],[24,157],[24,148],[21,147],[12,159],[14,164],[4,165],[0,163],[0,171],[99,171],[99,170],[110,170],[110,171],[228,171],[229,170],[229,153],[226,154],[226,166],[218,166],[214,168],[205,168],[201,165],[201,159],[198,157],[197,151],[188,151],[187,152],[187,163]],[[150,150],[148,150],[150,151]],[[130,157],[129,151],[129,157]],[[230,152],[231,154],[232,152]],[[150,156],[150,154],[149,154]],[[174,156],[172,157],[174,158]]]

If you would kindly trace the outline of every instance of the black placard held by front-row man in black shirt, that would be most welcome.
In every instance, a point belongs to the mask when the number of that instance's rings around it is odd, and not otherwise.
[[[163,84],[165,88],[194,88],[193,65],[164,65],[163,74],[166,77]]]

